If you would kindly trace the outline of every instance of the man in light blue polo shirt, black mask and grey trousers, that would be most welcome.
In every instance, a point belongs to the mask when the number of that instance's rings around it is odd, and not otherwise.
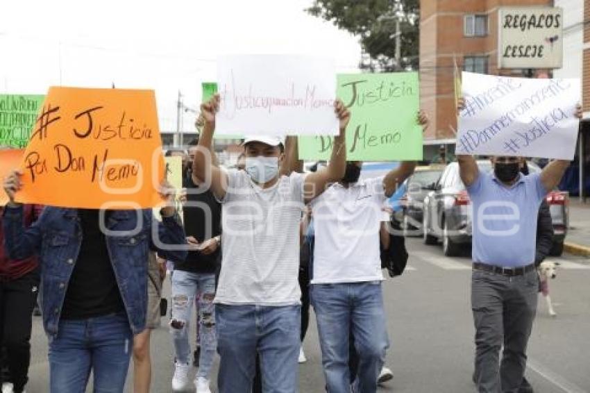
[[[581,108],[575,115],[582,117]],[[494,172],[489,174],[478,169],[473,156],[457,160],[473,203],[474,381],[481,393],[516,393],[537,312],[539,278],[534,260],[539,206],[557,187],[569,161],[555,160],[540,174],[524,176],[523,158],[491,158]]]

